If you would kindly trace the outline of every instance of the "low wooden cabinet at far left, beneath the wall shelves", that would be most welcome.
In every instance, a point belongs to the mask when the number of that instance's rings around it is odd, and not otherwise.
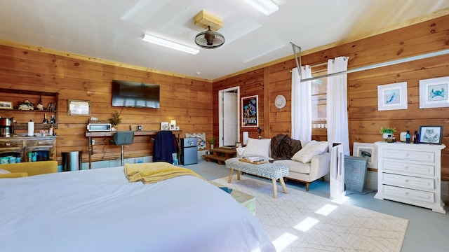
[[[0,138],[0,157],[20,156],[21,162],[29,162],[30,153],[41,155],[38,160],[56,160],[56,137]]]

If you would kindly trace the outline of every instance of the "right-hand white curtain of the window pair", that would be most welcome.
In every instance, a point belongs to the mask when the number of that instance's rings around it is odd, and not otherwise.
[[[348,57],[328,60],[328,74],[346,71]],[[349,155],[347,73],[328,77],[327,123],[328,141],[341,143],[344,155]]]

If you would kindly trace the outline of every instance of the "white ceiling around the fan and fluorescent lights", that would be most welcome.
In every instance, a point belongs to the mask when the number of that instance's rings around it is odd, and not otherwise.
[[[449,8],[448,0],[272,0],[267,16],[242,0],[0,0],[0,40],[215,79],[393,27]],[[190,55],[142,41],[145,33],[196,47],[193,17],[223,19],[217,49]]]

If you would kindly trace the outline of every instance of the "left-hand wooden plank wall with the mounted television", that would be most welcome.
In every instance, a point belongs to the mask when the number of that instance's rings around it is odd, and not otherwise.
[[[213,117],[212,83],[180,76],[142,71],[130,67],[113,66],[85,60],[70,55],[55,55],[39,50],[0,45],[0,85],[16,90],[58,92],[57,156],[61,153],[82,151],[83,162],[88,160],[88,140],[85,137],[88,116],[67,116],[67,100],[79,99],[91,102],[91,116],[106,120],[114,111],[121,112],[122,123],[118,130],[129,130],[129,125],[142,125],[143,130],[159,130],[161,122],[175,119],[182,134],[205,132],[212,136]],[[161,85],[161,109],[112,107],[112,80],[130,80]],[[17,97],[11,99],[17,105]],[[39,97],[30,97],[37,104]],[[47,100],[43,101],[47,106]],[[0,111],[0,116],[14,117],[18,123],[27,123],[31,116],[14,111]],[[48,119],[50,114],[48,114]],[[41,122],[38,113],[34,121]],[[18,130],[17,132],[26,132]],[[135,137],[134,144],[125,148],[125,157],[152,155],[152,136]],[[120,157],[120,147],[109,142],[109,137],[95,139],[93,161],[112,160]]]

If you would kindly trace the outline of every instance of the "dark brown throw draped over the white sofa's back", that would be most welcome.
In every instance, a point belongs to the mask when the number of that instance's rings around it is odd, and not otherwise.
[[[289,160],[302,148],[301,141],[292,139],[288,134],[277,134],[272,138],[272,161]]]

